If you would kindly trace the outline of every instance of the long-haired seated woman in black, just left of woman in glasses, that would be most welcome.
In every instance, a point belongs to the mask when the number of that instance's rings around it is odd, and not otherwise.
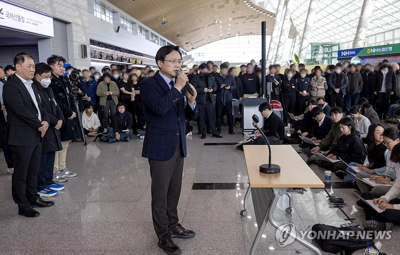
[[[357,162],[351,162],[349,163],[350,167],[358,167],[358,169],[370,175],[382,175],[384,173],[386,155],[388,154],[388,150],[383,143],[382,133],[384,130],[385,128],[380,124],[372,124],[368,128],[366,137],[368,164],[362,165]],[[356,177],[350,173],[357,174],[357,172],[350,167],[347,167],[346,171],[337,171],[335,174],[346,183],[355,183]]]

